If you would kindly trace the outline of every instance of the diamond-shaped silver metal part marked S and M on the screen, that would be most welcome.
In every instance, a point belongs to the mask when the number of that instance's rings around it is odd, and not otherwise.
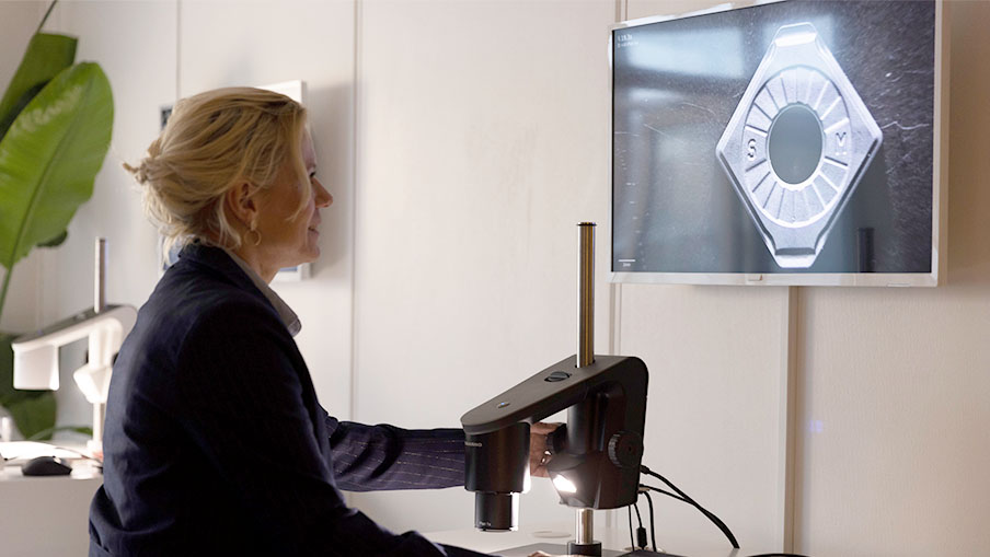
[[[715,152],[778,265],[810,267],[883,135],[810,23],[778,30]]]

